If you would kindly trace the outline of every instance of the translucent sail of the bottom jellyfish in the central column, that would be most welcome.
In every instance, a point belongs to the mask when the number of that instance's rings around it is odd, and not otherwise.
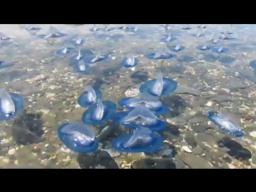
[[[134,134],[130,139],[122,143],[123,148],[131,148],[137,146],[138,144],[148,144],[152,142],[151,137],[152,131],[146,127],[139,127],[138,130],[134,130]]]

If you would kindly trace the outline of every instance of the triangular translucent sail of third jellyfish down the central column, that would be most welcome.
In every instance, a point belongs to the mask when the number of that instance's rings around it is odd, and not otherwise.
[[[130,122],[135,122],[143,126],[154,125],[158,122],[158,117],[147,109],[146,106],[137,106],[122,120],[124,124]]]

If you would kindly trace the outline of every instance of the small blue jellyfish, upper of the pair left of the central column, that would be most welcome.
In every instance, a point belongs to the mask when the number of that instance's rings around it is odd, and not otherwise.
[[[78,98],[78,104],[82,107],[92,106],[101,98],[102,92],[100,90],[94,90],[92,86],[86,86],[86,89]]]

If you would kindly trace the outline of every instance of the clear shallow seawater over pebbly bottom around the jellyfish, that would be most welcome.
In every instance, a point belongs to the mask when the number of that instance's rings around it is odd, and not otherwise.
[[[46,34],[50,25],[40,25],[38,34]],[[29,34],[18,25],[0,25],[0,32],[12,42],[0,48],[0,61],[12,62],[0,67],[0,88],[22,94],[24,110],[16,118],[0,122],[0,168],[119,168],[119,169],[186,169],[186,168],[254,168],[256,167],[256,76],[250,61],[256,58],[256,25],[206,25],[202,37],[195,38],[197,25],[182,30],[174,25],[173,42],[161,42],[166,34],[161,25],[139,25],[138,33],[124,30],[91,32],[93,25],[52,25],[69,36],[46,41]],[[116,26],[117,25],[111,25]],[[99,27],[102,27],[99,25]],[[214,53],[198,50],[220,32],[234,34],[221,44],[228,51]],[[84,43],[75,46],[81,52],[100,50],[110,54],[104,61],[90,64],[90,73],[76,74],[70,58],[54,55],[64,42],[79,35]],[[170,53],[177,58],[152,60],[144,57],[148,50],[162,46],[186,49]],[[126,54],[138,59],[134,68],[120,66]],[[82,53],[84,53],[82,52]],[[62,144],[58,126],[81,121],[86,110],[78,97],[87,85],[102,91],[103,100],[118,101],[133,97],[139,86],[155,78],[162,70],[166,78],[178,82],[173,94],[161,97],[169,107],[161,118],[167,129],[160,134],[164,145],[150,154],[127,154],[114,150],[111,141],[129,129],[112,121],[89,126],[98,135],[99,150],[77,154]],[[118,106],[118,110],[122,107]],[[229,115],[245,135],[234,138],[225,134],[207,118],[207,111]],[[106,128],[106,129],[104,129]]]

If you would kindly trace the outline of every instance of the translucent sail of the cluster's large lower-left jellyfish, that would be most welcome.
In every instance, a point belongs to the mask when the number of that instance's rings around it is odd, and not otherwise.
[[[95,141],[94,133],[81,122],[74,122],[64,126],[62,134],[69,135],[71,140],[82,146],[90,146]]]

